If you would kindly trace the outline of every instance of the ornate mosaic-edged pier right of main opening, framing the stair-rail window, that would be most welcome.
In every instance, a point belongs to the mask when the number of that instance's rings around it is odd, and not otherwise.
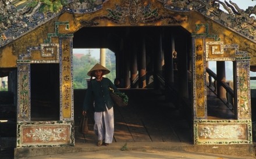
[[[205,28],[204,33],[193,35],[193,97],[194,97],[194,143],[195,144],[252,144],[250,109],[250,57],[239,51],[237,44],[224,44],[216,35],[208,32],[208,24],[197,24],[196,30]],[[195,36],[195,37],[194,37]],[[205,60],[233,61],[234,118],[207,117]],[[200,68],[201,67],[201,68]],[[222,67],[225,67],[222,65]],[[202,69],[203,68],[203,69]],[[223,68],[222,68],[223,69]],[[204,99],[204,100],[202,100]],[[219,100],[219,99],[216,99]]]

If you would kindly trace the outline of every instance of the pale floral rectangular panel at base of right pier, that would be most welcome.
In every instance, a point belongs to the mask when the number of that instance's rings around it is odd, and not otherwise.
[[[196,144],[253,143],[250,120],[194,120]]]

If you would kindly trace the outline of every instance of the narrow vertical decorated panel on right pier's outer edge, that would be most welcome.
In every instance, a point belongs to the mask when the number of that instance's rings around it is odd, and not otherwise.
[[[249,61],[237,61],[237,115],[238,119],[251,118]]]

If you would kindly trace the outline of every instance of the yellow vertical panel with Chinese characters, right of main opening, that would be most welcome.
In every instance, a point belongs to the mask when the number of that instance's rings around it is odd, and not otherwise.
[[[194,38],[193,48],[193,96],[194,118],[206,118],[206,81],[204,39]]]

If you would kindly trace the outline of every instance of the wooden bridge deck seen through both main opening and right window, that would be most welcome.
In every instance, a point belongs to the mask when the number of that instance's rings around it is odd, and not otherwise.
[[[159,91],[134,89],[127,91],[129,106],[114,107],[115,133],[113,142],[183,142],[193,143],[192,120],[180,113],[172,103],[166,102]],[[233,118],[233,112],[225,104],[208,95],[208,118]],[[89,133],[86,143],[97,143],[93,132],[93,113],[88,115]],[[78,132],[76,121],[76,143],[84,143],[83,135]]]

